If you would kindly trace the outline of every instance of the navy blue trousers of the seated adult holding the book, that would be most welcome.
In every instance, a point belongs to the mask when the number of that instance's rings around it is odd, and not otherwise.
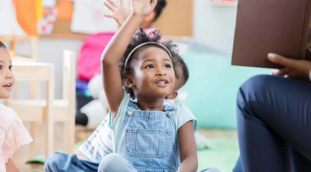
[[[258,75],[237,95],[235,171],[311,171],[311,84]]]

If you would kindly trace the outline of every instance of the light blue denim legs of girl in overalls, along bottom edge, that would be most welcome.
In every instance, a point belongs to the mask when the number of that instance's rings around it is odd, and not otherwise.
[[[112,153],[106,155],[99,164],[98,172],[137,172],[133,165],[123,156]],[[152,171],[152,170],[151,170]],[[151,172],[146,171],[146,172]],[[164,172],[171,172],[173,170],[164,170]],[[174,170],[175,171],[175,170]],[[220,172],[218,169],[210,168],[204,169],[201,172]]]

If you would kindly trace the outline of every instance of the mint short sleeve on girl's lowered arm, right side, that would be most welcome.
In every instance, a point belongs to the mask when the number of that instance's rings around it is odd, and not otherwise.
[[[198,121],[186,106],[176,106],[177,129],[188,121],[192,120],[194,132],[198,130]]]

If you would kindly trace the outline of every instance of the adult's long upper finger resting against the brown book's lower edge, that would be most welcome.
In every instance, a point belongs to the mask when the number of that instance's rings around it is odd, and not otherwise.
[[[279,54],[269,53],[268,59],[273,63],[280,64],[288,68],[299,68],[299,64],[297,63],[299,60],[286,58]]]

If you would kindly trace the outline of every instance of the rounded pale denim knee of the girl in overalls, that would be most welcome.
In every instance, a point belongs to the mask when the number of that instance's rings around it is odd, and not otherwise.
[[[99,163],[98,171],[99,172],[114,172],[122,169],[121,165],[127,164],[123,156],[112,153],[107,154]]]

